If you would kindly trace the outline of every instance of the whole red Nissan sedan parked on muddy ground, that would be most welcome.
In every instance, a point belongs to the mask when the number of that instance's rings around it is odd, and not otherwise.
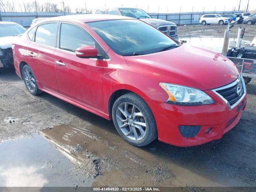
[[[126,142],[195,146],[240,120],[246,87],[226,57],[140,20],[72,15],[44,20],[13,44],[16,73],[42,91],[113,120]]]

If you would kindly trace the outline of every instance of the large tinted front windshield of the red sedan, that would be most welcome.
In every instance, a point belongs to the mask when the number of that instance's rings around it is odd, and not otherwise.
[[[151,54],[178,46],[168,36],[140,20],[108,20],[88,25],[116,54],[123,56]]]

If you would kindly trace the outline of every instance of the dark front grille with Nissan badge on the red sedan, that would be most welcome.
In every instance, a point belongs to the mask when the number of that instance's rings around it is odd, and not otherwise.
[[[236,84],[233,85],[232,83],[231,86],[224,89],[218,89],[216,92],[225,98],[230,106],[234,105],[244,94],[242,78],[239,77]]]

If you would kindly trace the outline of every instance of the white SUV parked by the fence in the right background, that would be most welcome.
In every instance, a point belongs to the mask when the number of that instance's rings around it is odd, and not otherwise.
[[[200,23],[202,25],[210,25],[210,24],[228,24],[228,21],[230,18],[228,17],[222,17],[219,14],[205,14],[200,18]]]

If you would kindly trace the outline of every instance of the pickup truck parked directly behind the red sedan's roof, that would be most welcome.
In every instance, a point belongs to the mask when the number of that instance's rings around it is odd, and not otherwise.
[[[147,14],[144,10],[138,8],[100,8],[94,11],[94,14],[109,14],[109,15],[122,15],[126,17],[132,17],[136,19],[140,19],[163,33],[167,34],[171,38],[175,40],[179,40],[179,36],[177,35],[177,25],[173,22],[169,22],[162,19],[153,19],[149,14]]]

